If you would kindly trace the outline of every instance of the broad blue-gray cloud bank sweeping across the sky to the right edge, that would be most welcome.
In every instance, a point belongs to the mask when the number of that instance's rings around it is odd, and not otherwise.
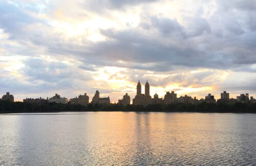
[[[16,7],[9,5],[8,8],[13,11]],[[2,12],[8,13],[8,10]],[[15,12],[22,13],[18,10]],[[42,46],[50,55],[72,56],[85,64],[153,71],[168,71],[175,68],[174,66],[229,69],[237,65],[256,63],[256,58],[253,56],[255,38],[252,37],[255,34],[244,30],[236,15],[225,14],[222,18],[220,17],[222,12],[220,10],[219,13],[212,15],[208,20],[210,23],[201,17],[185,17],[184,26],[176,19],[149,15],[147,21],[142,22],[137,28],[122,31],[101,30],[102,35],[112,40],[97,43],[83,42],[83,45],[62,41],[57,35],[48,34],[48,31],[40,33],[37,30],[32,30],[30,33],[34,35],[28,35],[29,38],[15,36],[15,39],[23,39],[25,42],[28,40],[34,45]],[[19,22],[29,24],[39,21],[19,13],[17,14],[24,16],[24,20],[16,17],[15,14],[10,17],[15,22],[13,25],[18,25]],[[2,20],[4,20],[1,24],[3,26],[6,19],[2,18]],[[218,30],[214,23],[218,25],[223,21],[224,26],[219,26],[222,29]],[[145,27],[151,28],[145,29]],[[157,29],[159,34],[156,34],[152,28]],[[7,31],[12,36],[24,32],[20,28],[16,29],[15,26],[13,29],[15,33]],[[225,34],[227,32],[228,35]],[[216,36],[216,33],[219,35]],[[118,61],[127,63],[120,64]]]

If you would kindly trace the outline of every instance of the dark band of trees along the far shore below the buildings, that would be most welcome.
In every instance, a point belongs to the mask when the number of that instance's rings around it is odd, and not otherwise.
[[[154,104],[146,107],[142,105],[121,106],[118,104],[99,105],[89,104],[87,106],[47,103],[37,105],[34,103],[0,101],[0,113],[25,113],[25,112],[59,112],[59,111],[151,111],[151,112],[234,112],[234,113],[256,113],[256,103],[243,104],[234,103],[206,103],[198,105],[172,103],[168,105]]]

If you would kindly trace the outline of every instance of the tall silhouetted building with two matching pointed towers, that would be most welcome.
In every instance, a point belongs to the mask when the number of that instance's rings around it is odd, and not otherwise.
[[[150,84],[146,81],[145,84],[145,94],[141,94],[141,84],[140,81],[137,84],[137,94],[133,100],[134,105],[147,106],[152,104],[152,98],[150,96]]]

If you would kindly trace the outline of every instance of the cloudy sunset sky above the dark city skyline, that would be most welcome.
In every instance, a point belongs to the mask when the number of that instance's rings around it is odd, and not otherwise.
[[[0,0],[0,95],[256,97],[255,0]]]

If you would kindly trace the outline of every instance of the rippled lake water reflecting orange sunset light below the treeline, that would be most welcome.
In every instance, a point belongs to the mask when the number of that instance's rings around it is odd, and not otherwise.
[[[256,114],[0,115],[0,165],[256,165]]]

